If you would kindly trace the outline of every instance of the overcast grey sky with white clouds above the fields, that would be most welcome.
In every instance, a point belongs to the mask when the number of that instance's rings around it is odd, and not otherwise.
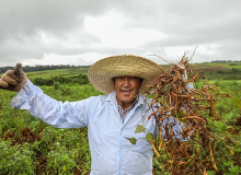
[[[0,0],[0,67],[241,60],[240,0]]]

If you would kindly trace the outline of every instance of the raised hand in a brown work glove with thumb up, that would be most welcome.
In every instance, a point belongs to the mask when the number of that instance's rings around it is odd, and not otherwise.
[[[26,82],[26,74],[22,71],[22,63],[16,63],[14,70],[8,70],[0,79],[0,89],[19,92]]]

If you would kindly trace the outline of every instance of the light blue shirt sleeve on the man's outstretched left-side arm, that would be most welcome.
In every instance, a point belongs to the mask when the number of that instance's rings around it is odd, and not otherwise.
[[[26,109],[34,117],[57,128],[80,128],[88,126],[91,116],[90,106],[94,106],[93,98],[62,103],[44,94],[38,86],[27,80],[23,89],[11,100],[10,105],[13,108]]]

